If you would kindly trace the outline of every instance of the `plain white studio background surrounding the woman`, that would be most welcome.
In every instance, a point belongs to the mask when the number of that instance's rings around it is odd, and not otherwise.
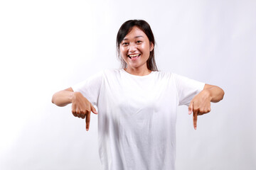
[[[0,1],[0,169],[100,169],[97,115],[89,132],[56,91],[119,68],[115,38],[144,19],[160,70],[222,87],[198,118],[177,119],[176,170],[256,169],[256,1]]]

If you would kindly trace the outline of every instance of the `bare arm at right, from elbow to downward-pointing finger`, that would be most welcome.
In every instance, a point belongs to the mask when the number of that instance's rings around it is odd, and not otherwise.
[[[188,114],[193,111],[193,126],[196,130],[197,116],[210,112],[210,102],[217,103],[224,96],[224,91],[218,86],[206,84],[203,90],[196,95],[188,106]]]

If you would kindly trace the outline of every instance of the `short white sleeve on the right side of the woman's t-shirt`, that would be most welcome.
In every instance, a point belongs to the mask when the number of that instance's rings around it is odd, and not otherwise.
[[[182,77],[178,74],[174,74],[174,77],[178,91],[178,105],[189,106],[193,97],[203,90],[205,84],[200,81],[188,79],[187,77]]]

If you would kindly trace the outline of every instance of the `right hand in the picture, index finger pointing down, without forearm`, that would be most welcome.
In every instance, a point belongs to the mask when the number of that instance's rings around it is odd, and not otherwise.
[[[196,123],[198,115],[203,115],[210,112],[210,92],[208,89],[203,89],[196,95],[188,106],[188,114],[191,115],[193,111],[193,127],[196,130]]]

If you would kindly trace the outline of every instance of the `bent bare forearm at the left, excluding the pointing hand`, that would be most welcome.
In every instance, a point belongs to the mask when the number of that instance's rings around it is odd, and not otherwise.
[[[52,102],[57,106],[66,106],[72,103],[73,94],[73,91],[58,91],[53,94]]]

